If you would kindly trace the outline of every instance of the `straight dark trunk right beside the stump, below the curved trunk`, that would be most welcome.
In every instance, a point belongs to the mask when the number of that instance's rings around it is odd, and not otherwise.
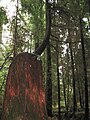
[[[52,77],[50,42],[47,45],[47,78],[46,78],[46,108],[48,116],[52,116]]]

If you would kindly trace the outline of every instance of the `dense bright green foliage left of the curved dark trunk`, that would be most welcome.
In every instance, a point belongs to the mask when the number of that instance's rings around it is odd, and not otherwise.
[[[21,0],[22,10],[28,12],[34,40],[39,42],[44,37],[45,4],[43,0]],[[41,34],[42,32],[42,34]]]

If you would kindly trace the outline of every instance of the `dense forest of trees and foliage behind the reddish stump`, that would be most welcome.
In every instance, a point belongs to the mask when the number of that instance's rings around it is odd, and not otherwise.
[[[38,56],[42,60],[47,113],[60,118],[63,113],[75,115],[80,112],[85,113],[85,120],[88,120],[90,1],[9,2],[14,11],[8,5],[0,5],[0,111],[9,65],[19,53],[34,54],[45,38],[49,17],[47,46]]]

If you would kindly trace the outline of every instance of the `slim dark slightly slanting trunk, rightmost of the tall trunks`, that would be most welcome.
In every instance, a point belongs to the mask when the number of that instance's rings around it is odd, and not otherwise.
[[[79,16],[79,20],[80,20],[83,70],[84,70],[84,81],[85,81],[85,120],[88,120],[88,116],[89,116],[88,80],[87,80],[87,68],[86,68],[85,47],[84,47],[84,38],[83,38],[83,26],[82,26],[82,18],[81,18],[81,16]]]

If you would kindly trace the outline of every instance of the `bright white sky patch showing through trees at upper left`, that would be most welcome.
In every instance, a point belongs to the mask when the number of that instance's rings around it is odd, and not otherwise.
[[[7,26],[10,26],[10,22],[12,20],[12,17],[15,15],[16,11],[16,0],[0,0],[0,6],[3,6],[7,11],[7,16],[9,23],[6,25],[3,25],[3,31],[2,31],[2,42],[6,44],[7,41],[10,40],[10,31],[7,29]]]

